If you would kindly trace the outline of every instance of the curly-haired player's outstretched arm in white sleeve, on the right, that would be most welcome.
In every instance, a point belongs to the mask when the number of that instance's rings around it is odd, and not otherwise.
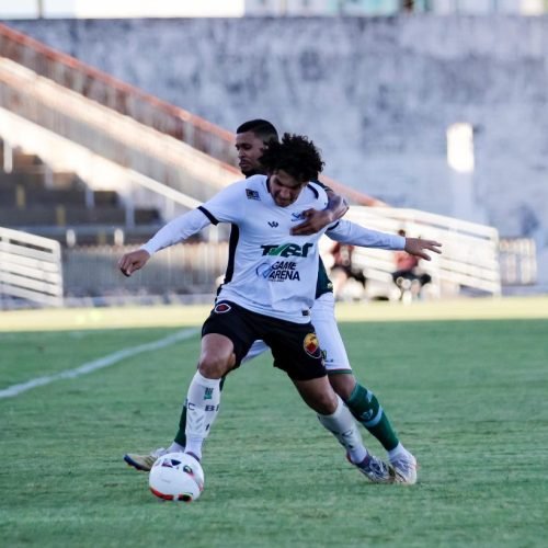
[[[423,238],[404,238],[403,236],[379,232],[362,227],[349,220],[340,220],[336,225],[329,228],[326,232],[332,240],[341,243],[350,243],[362,248],[387,249],[392,251],[404,250],[411,255],[420,256],[426,261],[431,256],[426,251],[442,253],[442,244],[435,240],[425,240]]]

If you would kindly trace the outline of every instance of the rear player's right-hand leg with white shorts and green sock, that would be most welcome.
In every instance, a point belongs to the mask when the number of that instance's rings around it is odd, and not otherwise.
[[[333,390],[343,399],[354,418],[380,442],[390,463],[398,463],[402,458],[414,461],[414,457],[399,441],[376,396],[353,375],[334,317],[334,299],[331,293],[316,299],[311,317]]]

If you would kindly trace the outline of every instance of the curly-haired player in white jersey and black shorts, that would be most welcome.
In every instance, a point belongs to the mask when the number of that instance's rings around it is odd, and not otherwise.
[[[373,481],[391,481],[395,470],[367,454],[352,415],[327,381],[321,351],[308,320],[318,269],[317,241],[326,229],[288,241],[292,222],[301,218],[302,212],[322,209],[328,202],[321,187],[307,184],[320,171],[321,159],[311,142],[285,135],[282,144],[271,145],[263,163],[270,169],[270,178],[255,175],[235,183],[119,261],[121,270],[130,275],[153,252],[183,241],[209,221],[238,227],[227,279],[204,324],[198,373],[189,389],[185,450],[201,457],[202,443],[218,411],[220,379],[240,364],[253,341],[262,339],[272,349],[275,365],[287,372],[320,422],[346,448],[349,459]],[[356,232],[353,227],[341,221],[329,227],[328,233],[355,244],[372,242],[366,229],[357,227],[361,231]],[[415,243],[415,251],[419,247],[437,251],[436,242]]]

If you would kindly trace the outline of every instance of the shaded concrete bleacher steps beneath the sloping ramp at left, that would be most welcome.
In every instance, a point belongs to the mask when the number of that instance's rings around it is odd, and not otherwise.
[[[140,242],[161,224],[156,208],[136,208],[128,218],[116,192],[92,191],[76,173],[53,171],[35,155],[18,149],[8,153],[4,158],[0,141],[0,224],[4,227],[61,243],[102,244],[115,233],[119,239],[121,230],[124,242]]]

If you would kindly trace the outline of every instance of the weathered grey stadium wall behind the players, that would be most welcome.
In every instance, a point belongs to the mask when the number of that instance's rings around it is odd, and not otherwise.
[[[503,237],[548,243],[548,18],[8,22],[220,126],[306,133],[327,174],[454,214],[446,129],[475,128],[471,199]]]

